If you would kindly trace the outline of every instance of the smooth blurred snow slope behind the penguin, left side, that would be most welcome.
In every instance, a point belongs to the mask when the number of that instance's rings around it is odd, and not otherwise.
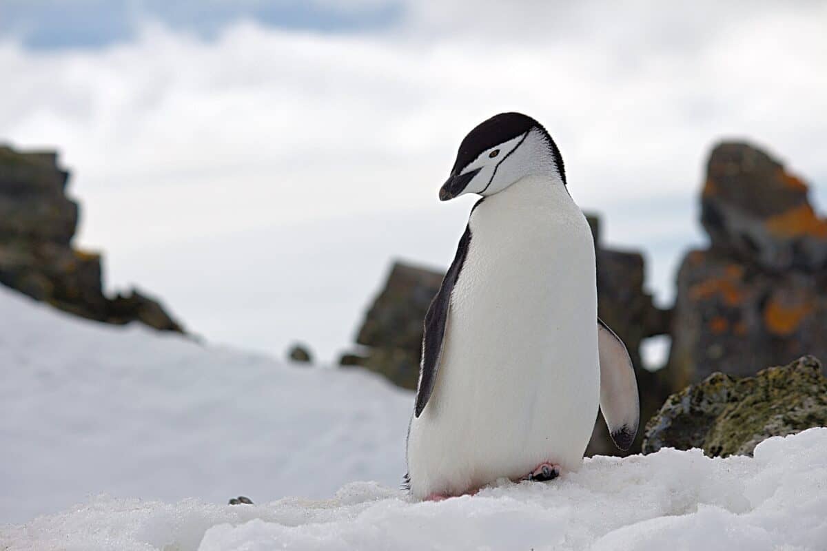
[[[3,287],[0,313],[0,525],[100,493],[272,501],[405,473],[414,397],[364,370],[84,321]]]

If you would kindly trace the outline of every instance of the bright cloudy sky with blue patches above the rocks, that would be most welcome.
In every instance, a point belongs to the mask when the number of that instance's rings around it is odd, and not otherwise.
[[[716,141],[827,204],[827,3],[683,3],[0,0],[0,141],[60,150],[109,289],[331,359],[391,259],[450,262],[457,145],[522,111],[668,302]]]

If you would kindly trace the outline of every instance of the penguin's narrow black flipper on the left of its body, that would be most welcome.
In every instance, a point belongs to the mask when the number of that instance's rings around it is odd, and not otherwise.
[[[439,287],[437,296],[433,297],[431,306],[428,307],[428,314],[425,315],[425,331],[422,340],[422,362],[419,364],[419,386],[416,393],[415,416],[419,416],[428,404],[428,398],[433,392],[433,385],[437,381],[439,360],[442,356],[442,340],[445,337],[445,329],[448,325],[448,310],[451,306],[451,293],[454,284],[457,283],[462,264],[465,263],[468,254],[468,246],[471,245],[471,228],[466,226],[462,234],[460,244],[457,247],[457,254],[448,268],[442,285]]]

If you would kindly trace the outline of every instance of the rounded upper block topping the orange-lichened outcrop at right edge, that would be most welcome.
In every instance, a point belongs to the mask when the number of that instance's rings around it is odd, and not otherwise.
[[[713,249],[761,268],[827,266],[827,220],[815,215],[807,186],[762,150],[722,143],[712,150],[701,222]]]

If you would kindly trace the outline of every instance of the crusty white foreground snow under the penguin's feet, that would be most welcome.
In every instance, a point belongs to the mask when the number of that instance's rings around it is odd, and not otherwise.
[[[827,429],[754,458],[662,449],[586,459],[552,482],[413,502],[374,482],[258,506],[100,497],[0,530],[0,549],[825,549]]]

